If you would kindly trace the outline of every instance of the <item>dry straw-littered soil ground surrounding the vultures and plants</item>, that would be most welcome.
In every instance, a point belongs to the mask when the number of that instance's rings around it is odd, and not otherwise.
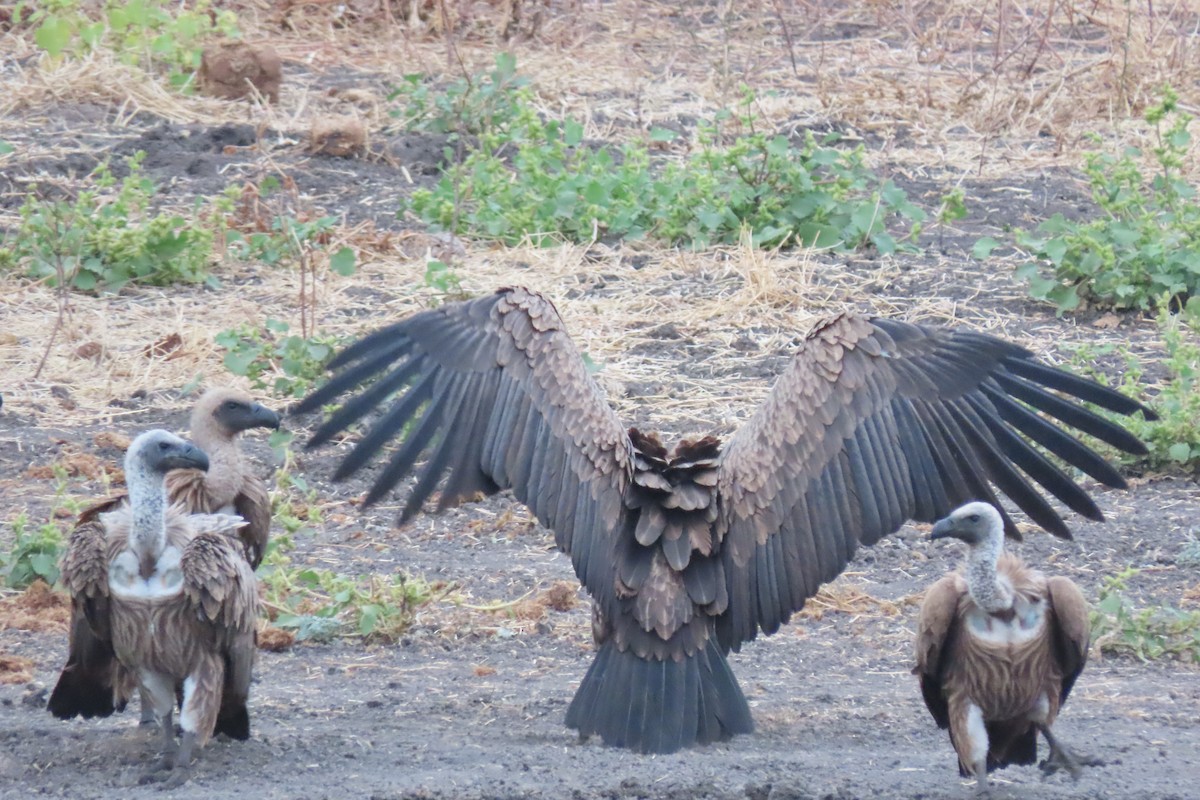
[[[1058,210],[1086,212],[1090,199],[1074,172],[1090,146],[1082,134],[1146,142],[1135,118],[1162,82],[1181,90],[1186,107],[1196,106],[1195,10],[1056,4],[1044,24],[1036,4],[894,5],[581,1],[553,4],[539,18],[529,13],[539,6],[527,4],[524,32],[509,47],[544,108],[587,120],[593,138],[619,140],[650,125],[688,128],[745,82],[760,91],[770,125],[834,127],[865,142],[872,164],[926,209],[961,185],[970,216],[926,234],[916,255],[498,248],[425,236],[394,211],[398,193],[432,180],[440,142],[388,130],[386,85],[416,71],[454,77],[460,59],[468,70],[488,66],[502,47],[488,13],[499,12],[480,11],[469,34],[446,40],[380,19],[335,24],[335,7],[320,2],[287,25],[278,6],[239,6],[253,36],[284,58],[282,100],[270,109],[180,100],[100,56],[52,65],[20,31],[0,34],[0,139],[16,146],[0,156],[0,225],[12,224],[30,182],[70,186],[109,154],[146,151],[162,201],[180,206],[283,173],[313,209],[342,218],[337,241],[361,253],[355,276],[320,285],[323,330],[352,335],[434,300],[421,283],[432,252],[455,263],[469,291],[522,283],[553,297],[602,366],[598,378],[622,416],[672,435],[732,431],[784,367],[794,337],[815,315],[846,307],[994,330],[1052,361],[1097,339],[1158,353],[1152,323],[1094,311],[1058,319],[1026,299],[1012,277],[1015,257],[980,265],[968,253],[980,235]],[[307,131],[329,113],[359,115],[373,155],[308,155]],[[0,277],[0,521],[22,512],[43,519],[61,504],[46,469],[53,464],[73,469],[70,495],[103,491],[95,467],[119,453],[97,433],[182,428],[185,385],[232,380],[215,333],[268,315],[295,321],[294,271],[245,264],[216,271],[217,290],[73,297],[37,379],[54,293]],[[170,333],[180,337],[176,350],[146,355],[146,345]],[[89,343],[98,347],[82,347]],[[256,440],[252,450],[268,471],[265,445]],[[641,757],[580,744],[562,724],[590,657],[589,613],[583,597],[563,612],[518,613],[521,601],[557,582],[575,585],[568,560],[523,507],[493,498],[396,529],[395,506],[360,513],[352,505],[361,483],[328,483],[335,457],[301,455],[292,465],[318,491],[325,521],[296,535],[294,561],[355,575],[402,570],[450,582],[455,591],[421,609],[395,645],[346,640],[263,652],[252,740],[212,744],[193,780],[170,794],[968,793],[908,674],[917,597],[958,559],[953,547],[931,547],[922,530],[906,528],[862,552],[793,625],[733,657],[758,724],[754,735]],[[1136,566],[1129,594],[1139,604],[1195,602],[1195,571],[1177,564],[1198,529],[1194,481],[1130,477],[1128,493],[1097,489],[1108,524],[1075,519],[1075,543],[1031,534],[1020,552],[1070,575],[1093,599],[1104,577]],[[6,525],[4,552],[10,539]],[[14,682],[0,685],[0,796],[161,795],[136,784],[148,745],[133,715],[61,723],[46,714],[44,691],[65,655],[61,610],[19,615],[17,599],[2,602],[0,670]],[[1194,664],[1093,654],[1060,733],[1108,765],[1078,783],[1008,770],[1001,794],[1200,798],[1198,716]]]

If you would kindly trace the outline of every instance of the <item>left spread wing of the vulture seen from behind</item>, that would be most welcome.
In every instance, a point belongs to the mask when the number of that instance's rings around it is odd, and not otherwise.
[[[383,409],[335,480],[403,437],[367,503],[410,474],[428,451],[402,519],[420,510],[446,473],[439,509],[511,488],[554,531],[593,596],[606,606],[612,601],[632,445],[548,300],[502,289],[422,312],[350,345],[330,368],[334,378],[295,413],[377,380],[350,397],[308,447]]]

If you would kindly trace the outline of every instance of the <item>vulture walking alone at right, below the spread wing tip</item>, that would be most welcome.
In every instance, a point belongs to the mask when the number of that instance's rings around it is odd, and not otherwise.
[[[959,772],[988,790],[988,772],[1033,764],[1038,732],[1045,771],[1079,777],[1094,759],[1075,756],[1050,727],[1087,661],[1087,602],[1069,578],[1046,578],[1004,553],[996,509],[970,503],[934,525],[934,539],[970,546],[966,570],[930,587],[917,625],[925,705],[950,729]]]

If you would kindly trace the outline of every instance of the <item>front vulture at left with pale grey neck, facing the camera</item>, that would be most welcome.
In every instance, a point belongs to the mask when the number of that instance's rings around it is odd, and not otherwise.
[[[128,499],[80,525],[62,561],[62,583],[96,638],[110,642],[162,726],[162,770],[181,782],[192,750],[214,728],[250,735],[246,700],[254,660],[258,590],[233,515],[187,515],[168,505],[170,469],[208,469],[192,444],[143,433],[125,455]],[[175,744],[172,716],[181,693]],[[218,722],[223,720],[223,722]]]

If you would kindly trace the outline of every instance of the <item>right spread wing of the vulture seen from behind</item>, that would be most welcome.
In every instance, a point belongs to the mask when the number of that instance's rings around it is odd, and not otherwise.
[[[1048,417],[1127,452],[1145,446],[1068,398],[1152,416],[994,336],[852,314],[816,326],[721,461],[722,644],[778,630],[859,543],[907,519],[932,522],[972,499],[1000,507],[992,486],[1056,536],[1070,533],[1030,480],[1103,519],[1030,440],[1116,487],[1124,486],[1116,470]]]

